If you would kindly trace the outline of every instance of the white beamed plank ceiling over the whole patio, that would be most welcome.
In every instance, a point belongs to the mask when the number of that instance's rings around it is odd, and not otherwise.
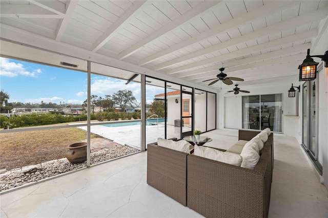
[[[327,15],[328,1],[1,0],[1,38],[4,47],[15,41],[45,50],[52,50],[45,41],[56,42],[203,86],[224,67],[245,80],[238,83],[254,85],[296,79]],[[63,61],[41,56],[26,58]]]

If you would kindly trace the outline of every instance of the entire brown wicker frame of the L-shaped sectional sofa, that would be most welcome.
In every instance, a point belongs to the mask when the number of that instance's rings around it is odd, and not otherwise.
[[[249,141],[258,133],[239,130],[238,138]],[[268,217],[273,159],[272,133],[253,170],[152,143],[147,183],[206,217]]]

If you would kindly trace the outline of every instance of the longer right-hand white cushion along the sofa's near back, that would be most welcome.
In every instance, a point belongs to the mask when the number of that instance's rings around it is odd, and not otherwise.
[[[235,165],[235,166],[240,166],[242,161],[241,156],[238,154],[231,153],[231,152],[223,152],[220,150],[216,150],[214,148],[197,146],[197,145],[195,145],[194,148],[194,155]]]

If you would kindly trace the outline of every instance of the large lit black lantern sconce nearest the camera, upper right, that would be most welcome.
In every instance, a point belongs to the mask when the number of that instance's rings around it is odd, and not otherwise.
[[[310,49],[308,49],[308,55],[303,60],[303,63],[298,66],[299,69],[299,81],[315,80],[317,77],[317,65],[311,57],[318,57],[324,61],[324,67],[328,68],[328,51],[324,55],[310,55]]]

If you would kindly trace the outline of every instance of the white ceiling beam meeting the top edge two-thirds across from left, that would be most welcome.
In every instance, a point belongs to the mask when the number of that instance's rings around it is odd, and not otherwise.
[[[122,60],[135,52],[137,52],[139,49],[150,43],[151,41],[155,40],[156,38],[167,34],[168,32],[174,30],[175,28],[179,27],[180,25],[186,23],[190,19],[201,16],[204,12],[207,12],[215,5],[221,3],[222,1],[203,1],[199,5],[197,5],[195,8],[190,9],[186,13],[182,14],[181,16],[177,17],[176,19],[172,20],[169,24],[161,27],[160,29],[156,30],[151,35],[147,36],[146,38],[142,39],[141,41],[135,43],[132,47],[129,49],[122,51],[118,54],[118,59]]]

